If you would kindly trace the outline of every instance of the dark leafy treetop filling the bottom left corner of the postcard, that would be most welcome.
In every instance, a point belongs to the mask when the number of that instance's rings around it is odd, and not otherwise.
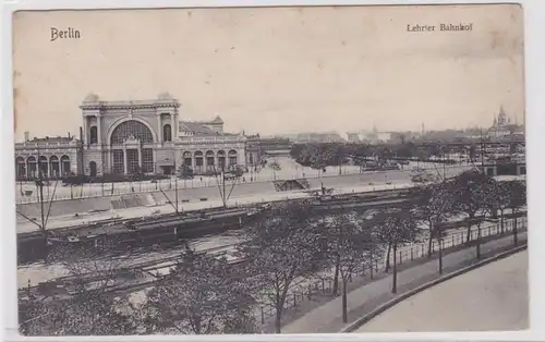
[[[81,257],[81,256],[80,256]],[[21,305],[21,330],[31,335],[126,334],[128,318],[119,313],[110,286],[126,270],[111,260],[78,259],[64,264],[70,276],[60,281],[65,292],[31,295]],[[51,288],[51,286],[49,286]],[[52,283],[57,288],[57,282]]]

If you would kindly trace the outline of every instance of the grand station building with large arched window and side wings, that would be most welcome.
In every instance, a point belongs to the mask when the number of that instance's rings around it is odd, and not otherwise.
[[[243,133],[223,132],[216,117],[180,121],[181,103],[164,93],[153,100],[102,101],[90,94],[80,106],[80,137],[33,138],[15,144],[17,179],[107,173],[173,174],[181,166],[195,174],[245,168]]]

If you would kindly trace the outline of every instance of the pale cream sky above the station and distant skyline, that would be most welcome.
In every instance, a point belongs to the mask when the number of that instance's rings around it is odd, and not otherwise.
[[[16,137],[77,133],[89,93],[168,91],[181,120],[264,135],[487,127],[500,106],[520,123],[522,20],[508,4],[17,12]]]

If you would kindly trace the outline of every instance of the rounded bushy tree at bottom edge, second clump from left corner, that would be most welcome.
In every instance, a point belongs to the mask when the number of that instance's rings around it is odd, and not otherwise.
[[[252,298],[244,281],[230,272],[225,257],[191,249],[148,294],[154,330],[182,334],[223,333],[247,314]],[[249,318],[245,319],[249,321]]]

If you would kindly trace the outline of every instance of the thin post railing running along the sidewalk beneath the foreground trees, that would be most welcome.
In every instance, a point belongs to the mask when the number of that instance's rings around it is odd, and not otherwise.
[[[526,230],[526,218],[511,219],[506,220],[504,222],[504,230],[501,231],[500,224],[498,223],[488,223],[483,224],[481,228],[481,239],[486,239],[494,235],[512,233],[514,220],[517,220],[517,228],[519,233],[524,232]],[[479,229],[474,228],[470,231],[471,240],[475,241],[479,236]],[[468,237],[467,232],[456,232],[451,233],[443,240],[443,252],[448,253],[449,249],[453,247],[465,244],[465,239]],[[522,241],[521,241],[522,243]],[[438,252],[438,243],[434,241],[432,244],[432,253]],[[427,257],[429,249],[426,243],[415,243],[409,246],[400,247],[398,251],[398,256],[396,258],[397,265],[403,265],[409,261],[413,261],[416,259],[423,259]],[[393,262],[392,253],[390,253],[390,269],[391,262]],[[350,282],[356,277],[365,277],[368,276],[370,279],[373,279],[375,274],[379,274],[380,272],[387,272],[387,257],[375,259],[373,261],[374,265],[362,265],[362,267],[358,268],[350,274]],[[373,268],[373,269],[372,269]],[[316,274],[311,279],[301,279],[293,283],[288,290],[288,294],[286,296],[286,302],[283,305],[283,309],[296,307],[299,304],[304,302],[305,300],[312,300],[317,295],[331,295],[334,289],[334,272],[332,270],[323,272],[320,274]],[[340,286],[339,286],[340,290]],[[258,316],[258,321],[264,325],[266,320],[276,315],[275,305],[271,303],[262,302],[258,306],[258,312],[256,313]]]

